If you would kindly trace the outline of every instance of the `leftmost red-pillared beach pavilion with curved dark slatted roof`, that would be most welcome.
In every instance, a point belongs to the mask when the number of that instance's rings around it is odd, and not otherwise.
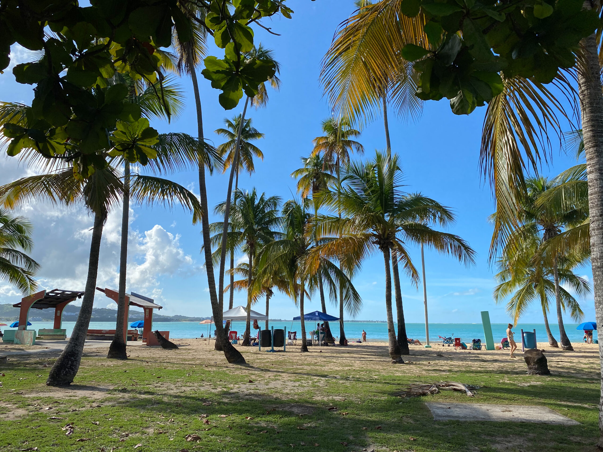
[[[50,292],[46,290],[40,290],[40,292],[33,293],[24,297],[19,303],[13,304],[13,307],[19,308],[19,327],[17,331],[14,331],[14,338],[16,344],[33,344],[36,340],[36,331],[33,333],[21,333],[20,331],[27,330],[27,318],[31,308],[34,309],[48,309],[54,307],[54,325],[52,330],[39,330],[38,334],[44,339],[60,339],[65,340],[67,330],[62,330],[62,319],[63,319],[63,308],[77,298],[81,298],[84,292],[78,290],[64,290],[64,289],[53,289]],[[30,341],[28,336],[33,336],[33,340]],[[8,337],[4,337],[5,342],[8,341]],[[23,342],[25,341],[25,342]]]

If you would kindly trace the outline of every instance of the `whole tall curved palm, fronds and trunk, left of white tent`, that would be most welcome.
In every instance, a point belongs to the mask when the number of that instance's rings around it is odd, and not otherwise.
[[[229,363],[245,363],[242,354],[227,341],[226,332],[222,326],[223,295],[216,291],[216,281],[213,275],[212,265],[212,246],[209,230],[209,210],[207,205],[207,186],[205,180],[206,162],[203,160],[205,137],[203,134],[203,110],[201,108],[201,96],[199,94],[199,84],[197,80],[197,66],[201,63],[206,53],[207,30],[204,27],[205,16],[209,9],[199,5],[188,4],[185,14],[191,22],[192,39],[188,42],[180,42],[177,34],[172,37],[172,43],[177,54],[177,71],[180,75],[190,75],[192,80],[193,92],[195,95],[195,109],[197,111],[197,137],[198,137],[198,174],[199,174],[199,192],[200,202],[203,208],[201,217],[201,230],[203,233],[203,253],[205,256],[205,269],[207,273],[207,287],[209,289],[209,299],[212,304],[212,313],[216,325],[216,337],[223,345],[224,356]],[[232,184],[231,184],[232,187]],[[230,199],[230,193],[228,196]],[[221,292],[221,290],[219,290]]]

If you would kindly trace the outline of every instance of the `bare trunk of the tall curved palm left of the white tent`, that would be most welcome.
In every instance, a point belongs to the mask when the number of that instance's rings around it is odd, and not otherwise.
[[[189,54],[189,67],[191,68],[192,87],[195,93],[195,107],[197,107],[197,130],[199,146],[203,146],[203,115],[201,114],[201,97],[199,96],[199,85],[197,83],[197,74],[195,65],[192,64],[192,58]],[[209,209],[207,208],[207,187],[205,184],[205,163],[202,159],[203,151],[199,149],[199,192],[201,198],[201,207],[203,207],[203,216],[201,226],[203,230],[203,251],[205,253],[205,269],[207,272],[207,287],[209,288],[209,299],[212,303],[213,319],[216,328],[216,341],[222,341],[224,345],[224,356],[229,363],[245,364],[243,355],[233,347],[227,340],[226,331],[222,326],[222,309],[219,306],[218,294],[216,293],[216,281],[213,275],[212,262],[212,240],[209,235]],[[223,268],[224,270],[224,268]]]

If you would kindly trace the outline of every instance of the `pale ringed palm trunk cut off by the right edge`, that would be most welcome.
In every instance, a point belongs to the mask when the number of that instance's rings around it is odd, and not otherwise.
[[[590,1],[584,8],[592,9]],[[590,261],[593,270],[596,321],[603,325],[603,96],[601,95],[601,67],[595,34],[582,39],[584,59],[578,60],[578,93],[582,115],[582,137],[586,151],[589,183]],[[603,377],[603,341],[599,341],[601,376]],[[603,449],[603,386],[599,401],[598,447]]]

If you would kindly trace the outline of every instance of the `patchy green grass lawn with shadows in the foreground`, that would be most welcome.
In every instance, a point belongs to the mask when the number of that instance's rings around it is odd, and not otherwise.
[[[245,355],[250,366],[234,366],[218,352],[180,353],[127,362],[84,357],[69,389],[44,385],[52,359],[11,359],[0,370],[0,450],[585,451],[598,436],[595,371],[534,377],[521,361],[517,370],[488,370],[473,362],[434,366],[416,354],[412,365],[378,356],[356,366],[364,356],[328,352],[256,352]],[[350,366],[337,371],[342,360]],[[473,399],[390,395],[404,383],[437,380],[482,388]],[[546,406],[580,425],[435,422],[425,401]]]

